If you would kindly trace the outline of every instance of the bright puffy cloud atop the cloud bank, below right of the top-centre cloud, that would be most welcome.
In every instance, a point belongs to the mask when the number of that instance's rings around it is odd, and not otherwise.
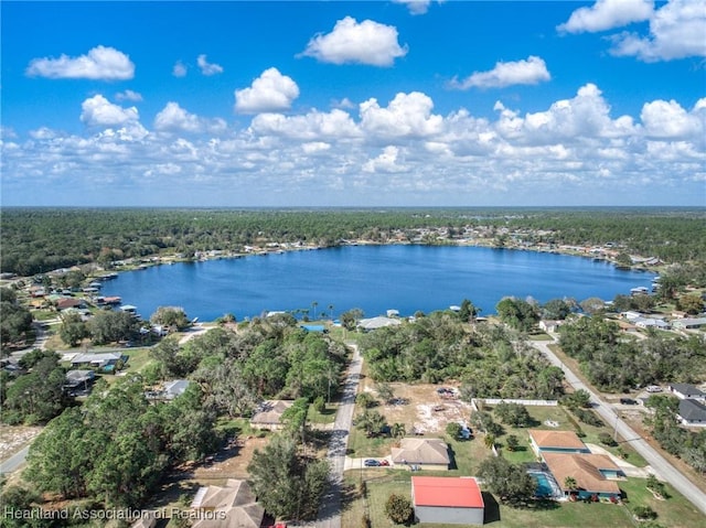
[[[361,128],[382,138],[428,137],[443,127],[443,118],[432,115],[432,109],[431,98],[420,91],[397,94],[387,108],[368,99],[360,105]]]

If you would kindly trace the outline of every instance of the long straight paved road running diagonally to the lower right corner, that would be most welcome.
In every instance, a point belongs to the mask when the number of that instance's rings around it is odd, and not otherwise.
[[[692,482],[684,476],[676,467],[674,467],[664,456],[662,456],[654,448],[645,442],[642,437],[632,430],[628,423],[625,423],[612,406],[603,401],[590,387],[587,387],[561,360],[552,352],[548,343],[545,342],[532,342],[535,348],[538,348],[544,355],[547,356],[553,365],[556,365],[561,370],[566,380],[574,387],[574,389],[584,389],[591,395],[591,401],[595,402],[593,409],[600,414],[600,417],[611,428],[618,431],[618,434],[623,440],[642,455],[644,460],[652,466],[657,476],[668,482],[677,492],[684,495],[694,506],[706,514],[706,493],[702,492]]]

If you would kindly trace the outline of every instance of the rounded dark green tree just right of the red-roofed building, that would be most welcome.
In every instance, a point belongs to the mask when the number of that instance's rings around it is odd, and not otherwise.
[[[512,464],[502,456],[483,460],[478,476],[488,489],[512,506],[525,505],[534,497],[537,484],[522,464]]]

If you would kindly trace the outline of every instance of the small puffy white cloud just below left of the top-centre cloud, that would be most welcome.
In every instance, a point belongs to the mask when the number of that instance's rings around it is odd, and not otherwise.
[[[257,114],[288,110],[299,97],[299,86],[277,68],[269,68],[249,88],[235,90],[235,111]]]

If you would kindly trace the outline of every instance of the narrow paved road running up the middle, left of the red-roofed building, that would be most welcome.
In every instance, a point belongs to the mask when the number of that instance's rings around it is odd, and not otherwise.
[[[341,528],[341,486],[343,485],[343,470],[345,464],[345,451],[349,444],[349,433],[353,427],[353,408],[355,407],[355,394],[361,379],[363,358],[357,345],[346,343],[353,349],[353,357],[349,374],[343,386],[343,396],[333,423],[333,432],[329,441],[328,457],[331,463],[331,487],[327,492],[319,509],[319,520],[315,528]]]

